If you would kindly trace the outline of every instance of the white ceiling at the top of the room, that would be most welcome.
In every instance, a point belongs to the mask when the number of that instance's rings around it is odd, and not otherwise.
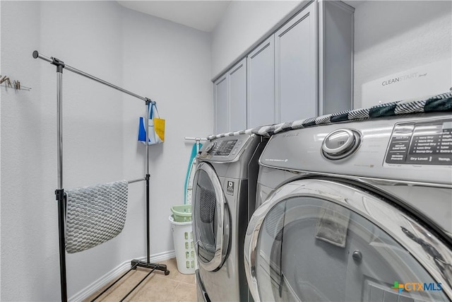
[[[228,1],[117,1],[121,6],[175,23],[203,30],[215,29],[225,13]]]

